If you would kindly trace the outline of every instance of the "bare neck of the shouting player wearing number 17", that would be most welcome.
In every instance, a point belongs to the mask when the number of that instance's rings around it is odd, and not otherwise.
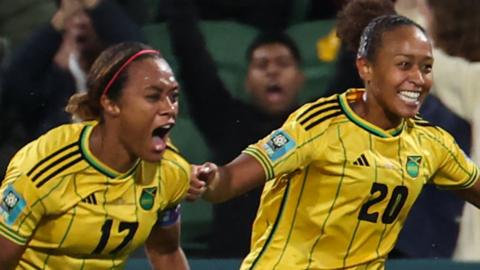
[[[105,123],[94,127],[89,138],[90,151],[108,167],[120,173],[130,170],[137,161],[121,143],[115,129],[107,128]]]

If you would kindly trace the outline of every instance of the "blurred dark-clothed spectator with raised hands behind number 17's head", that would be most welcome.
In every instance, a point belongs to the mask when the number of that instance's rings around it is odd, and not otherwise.
[[[108,45],[141,40],[111,0],[62,0],[51,22],[15,50],[2,83],[0,174],[10,155],[46,130],[70,121],[68,98],[85,90],[85,74]]]

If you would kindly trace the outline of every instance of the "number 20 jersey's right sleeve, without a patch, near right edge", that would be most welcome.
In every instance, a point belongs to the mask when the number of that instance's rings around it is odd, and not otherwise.
[[[431,182],[443,189],[465,189],[473,186],[479,176],[478,166],[467,157],[453,137],[443,131],[434,139],[432,156],[438,168]]]

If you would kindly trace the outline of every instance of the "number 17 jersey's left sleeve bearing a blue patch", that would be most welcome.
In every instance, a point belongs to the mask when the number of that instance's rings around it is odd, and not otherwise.
[[[25,245],[45,215],[41,197],[29,177],[7,174],[0,187],[0,234]]]

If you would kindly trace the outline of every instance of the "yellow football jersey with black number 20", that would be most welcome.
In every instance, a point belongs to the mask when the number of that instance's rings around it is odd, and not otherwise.
[[[427,183],[468,188],[478,167],[420,117],[392,130],[356,115],[362,89],[321,98],[244,153],[267,181],[241,269],[384,269]]]

